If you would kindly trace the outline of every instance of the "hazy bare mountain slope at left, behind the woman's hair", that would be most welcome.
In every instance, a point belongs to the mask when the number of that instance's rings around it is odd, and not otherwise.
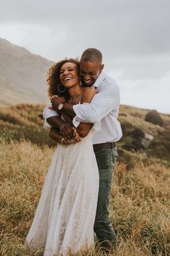
[[[46,102],[46,72],[53,64],[0,38],[0,106]]]

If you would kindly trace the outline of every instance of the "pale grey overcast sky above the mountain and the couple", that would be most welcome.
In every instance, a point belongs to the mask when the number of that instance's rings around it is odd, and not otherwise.
[[[0,37],[58,61],[99,48],[121,103],[170,114],[169,0],[0,0]]]

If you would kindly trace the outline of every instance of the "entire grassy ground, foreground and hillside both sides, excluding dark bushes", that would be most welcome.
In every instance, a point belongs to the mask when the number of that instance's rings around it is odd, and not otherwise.
[[[0,255],[42,255],[24,244],[54,152],[47,145],[55,145],[42,129],[42,108],[22,104],[0,109]],[[120,108],[125,131],[119,145],[130,140],[128,132],[135,127],[152,132],[155,139],[152,158],[120,149],[110,204],[118,244],[108,255],[170,255],[170,116],[162,114],[164,127],[158,127],[144,121],[146,113],[130,106]],[[102,256],[104,252],[97,244],[95,252],[76,255]]]

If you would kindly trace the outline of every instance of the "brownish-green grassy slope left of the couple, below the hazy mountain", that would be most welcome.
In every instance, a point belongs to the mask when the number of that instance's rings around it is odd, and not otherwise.
[[[0,108],[0,141],[29,140],[35,145],[56,145],[42,129],[42,105],[20,104]],[[43,138],[43,140],[42,140]]]

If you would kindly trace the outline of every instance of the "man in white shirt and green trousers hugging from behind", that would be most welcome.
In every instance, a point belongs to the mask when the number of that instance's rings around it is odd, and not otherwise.
[[[115,142],[122,137],[122,130],[120,122],[117,121],[120,91],[115,81],[104,74],[103,68],[102,53],[96,48],[86,49],[80,61],[81,82],[84,86],[96,88],[97,95],[94,95],[90,104],[75,106],[65,103],[64,98],[53,98],[52,106],[54,110],[62,109],[72,116],[75,127],[78,127],[80,122],[101,121],[101,130],[93,137],[94,153],[99,168],[99,196],[94,232],[99,242],[107,246],[109,243],[115,245],[116,242],[115,231],[109,221],[109,194],[117,158]],[[60,129],[63,136],[69,139],[72,136],[72,127],[59,119],[54,110],[45,108],[45,120],[51,126]]]

